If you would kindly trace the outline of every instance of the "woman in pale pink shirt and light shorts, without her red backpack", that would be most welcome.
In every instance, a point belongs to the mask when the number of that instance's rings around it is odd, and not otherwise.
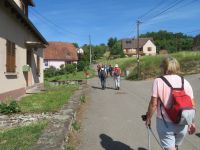
[[[163,77],[168,80],[173,88],[182,86],[181,77],[178,76],[180,66],[178,61],[173,57],[166,57],[161,63]],[[193,108],[195,107],[193,90],[190,83],[184,79],[184,90],[192,99]],[[164,105],[161,107],[161,104]],[[151,125],[151,118],[157,110],[156,127],[160,138],[160,143],[165,150],[178,150],[183,139],[188,132],[195,132],[194,122],[190,125],[179,125],[173,123],[168,117],[164,107],[169,108],[172,105],[171,88],[161,79],[156,78],[152,87],[152,96],[147,111],[146,126]]]

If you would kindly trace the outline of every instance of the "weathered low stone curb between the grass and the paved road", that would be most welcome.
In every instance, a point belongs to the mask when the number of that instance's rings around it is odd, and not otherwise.
[[[55,114],[48,127],[43,131],[37,143],[31,150],[65,150],[71,124],[76,119],[76,112],[80,108],[82,95],[88,90],[87,84],[80,85],[69,102]]]

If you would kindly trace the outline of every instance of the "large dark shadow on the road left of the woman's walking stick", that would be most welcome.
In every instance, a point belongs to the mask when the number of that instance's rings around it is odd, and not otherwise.
[[[120,141],[114,141],[111,137],[109,137],[106,134],[101,134],[99,137],[101,139],[101,146],[105,150],[134,150],[130,148],[130,146]]]

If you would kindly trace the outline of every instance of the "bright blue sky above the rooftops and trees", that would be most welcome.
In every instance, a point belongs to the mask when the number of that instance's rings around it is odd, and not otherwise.
[[[159,30],[188,35],[200,33],[200,0],[34,2],[36,7],[30,8],[29,17],[48,41],[76,42],[82,46],[89,43],[89,34],[94,45],[106,44],[110,37],[136,37],[138,18],[143,22],[140,33]]]

